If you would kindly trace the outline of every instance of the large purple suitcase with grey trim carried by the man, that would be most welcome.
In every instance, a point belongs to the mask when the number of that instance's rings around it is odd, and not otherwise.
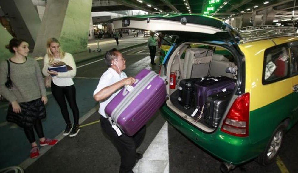
[[[128,136],[140,130],[166,99],[164,79],[154,71],[143,69],[135,79],[134,89],[122,88],[105,108],[105,113]]]

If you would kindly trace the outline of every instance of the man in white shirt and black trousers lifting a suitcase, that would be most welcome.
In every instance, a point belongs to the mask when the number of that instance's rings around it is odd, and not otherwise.
[[[101,128],[109,136],[121,157],[119,172],[133,173],[132,169],[136,159],[143,157],[141,153],[136,152],[136,148],[141,145],[145,138],[146,126],[143,126],[134,136],[127,136],[124,133],[118,136],[116,132],[117,126],[111,126],[105,114],[105,107],[120,92],[123,86],[132,85],[135,79],[127,77],[126,73],[122,71],[126,68],[125,59],[117,49],[114,48],[107,51],[105,62],[108,65],[108,70],[100,77],[99,83],[93,92],[93,97],[96,101],[100,101],[98,112],[100,114]]]

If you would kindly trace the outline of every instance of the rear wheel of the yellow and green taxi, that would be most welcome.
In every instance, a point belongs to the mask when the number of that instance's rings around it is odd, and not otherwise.
[[[257,162],[263,166],[269,165],[276,160],[277,154],[280,151],[280,147],[283,143],[285,135],[285,125],[280,124],[272,134],[265,150],[257,158]]]

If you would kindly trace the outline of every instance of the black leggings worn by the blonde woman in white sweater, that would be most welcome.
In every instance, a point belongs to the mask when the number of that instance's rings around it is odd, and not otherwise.
[[[66,124],[70,124],[69,113],[67,110],[67,104],[65,97],[69,103],[69,107],[72,109],[72,114],[74,116],[75,125],[79,124],[79,108],[77,107],[75,85],[71,86],[57,86],[51,83],[52,94],[60,106],[62,116]]]

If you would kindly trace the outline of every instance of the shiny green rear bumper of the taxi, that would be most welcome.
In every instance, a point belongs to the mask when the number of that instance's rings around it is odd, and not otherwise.
[[[238,165],[257,157],[262,150],[256,150],[258,144],[252,144],[249,137],[235,137],[217,129],[215,133],[205,133],[177,116],[167,106],[161,108],[162,116],[177,130],[195,144],[207,150],[211,155]]]

